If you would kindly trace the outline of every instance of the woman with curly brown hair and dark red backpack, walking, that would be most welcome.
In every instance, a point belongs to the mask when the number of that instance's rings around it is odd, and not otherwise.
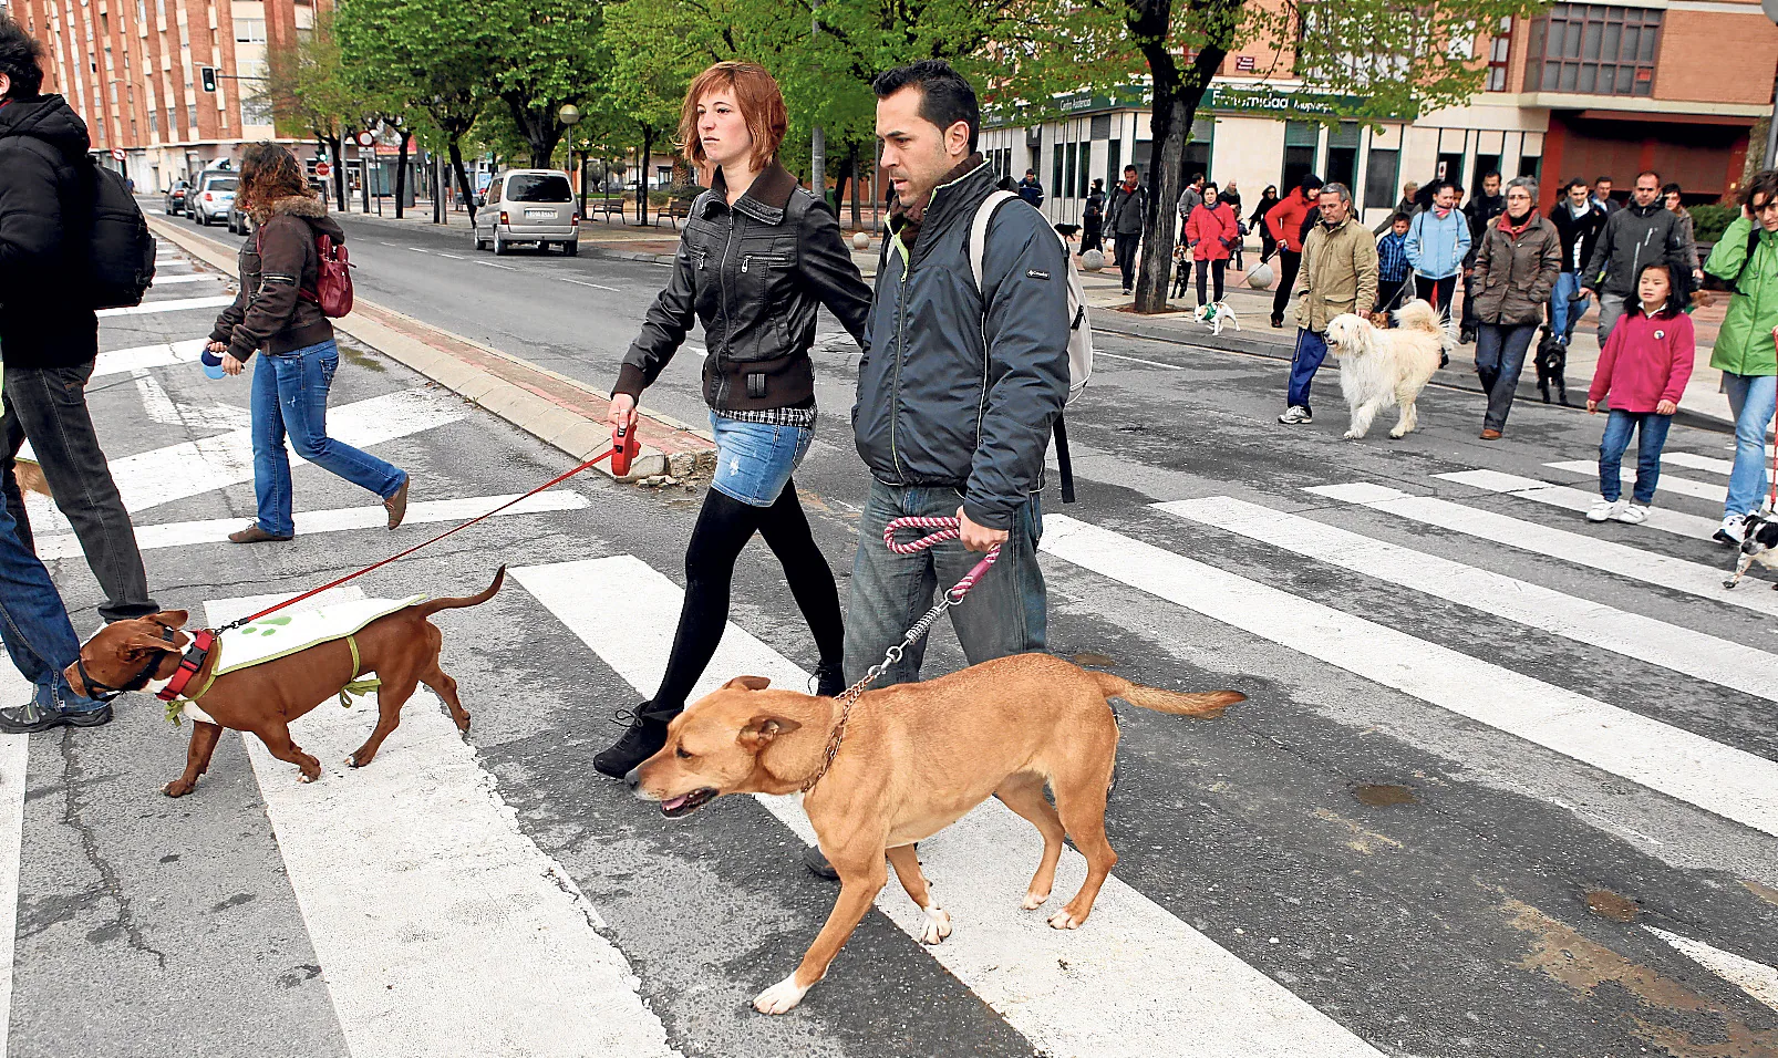
[[[332,322],[315,302],[315,236],[341,244],[345,233],[309,192],[295,156],[272,142],[247,148],[240,199],[252,236],[240,247],[240,293],[217,317],[210,352],[222,356],[224,372],[238,375],[254,350],[265,350],[252,372],[252,491],[260,512],[228,539],[258,544],[295,535],[286,432],[297,455],[380,496],[395,528],[407,514],[407,471],[327,436],[327,389],[340,368],[340,347]]]

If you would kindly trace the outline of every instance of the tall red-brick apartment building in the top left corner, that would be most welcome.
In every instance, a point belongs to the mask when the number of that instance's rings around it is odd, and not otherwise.
[[[309,30],[327,0],[7,2],[50,52],[43,91],[68,98],[108,165],[139,190],[162,190],[277,139],[263,101],[267,48]]]

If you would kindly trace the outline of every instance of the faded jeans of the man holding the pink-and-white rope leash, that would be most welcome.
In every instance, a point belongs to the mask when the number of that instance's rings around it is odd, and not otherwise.
[[[960,541],[946,541],[914,555],[896,555],[884,546],[884,526],[896,517],[955,517],[964,494],[957,489],[885,485],[871,480],[871,494],[859,519],[859,551],[852,560],[852,603],[846,608],[846,683],[884,660],[884,653],[901,642],[921,613],[937,601],[937,590],[949,590],[969,573],[981,555],[964,549]],[[925,533],[921,533],[925,535]],[[1013,514],[999,558],[981,574],[964,601],[951,606],[951,628],[971,665],[1042,651],[1047,628],[1044,573],[1037,567],[1037,542],[1044,535],[1038,494]],[[901,533],[914,539],[912,532]],[[907,649],[901,660],[873,686],[919,679],[926,640]]]

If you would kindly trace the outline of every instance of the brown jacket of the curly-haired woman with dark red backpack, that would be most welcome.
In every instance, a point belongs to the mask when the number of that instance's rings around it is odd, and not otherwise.
[[[210,341],[228,345],[245,361],[256,349],[290,352],[332,338],[332,322],[313,297],[320,258],[315,236],[345,242],[345,231],[327,215],[320,199],[290,196],[272,203],[270,215],[254,226],[240,247],[240,293],[222,309]]]

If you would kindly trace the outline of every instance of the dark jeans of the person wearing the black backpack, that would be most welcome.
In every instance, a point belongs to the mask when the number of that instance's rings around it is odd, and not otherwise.
[[[0,414],[5,500],[14,512],[20,544],[32,549],[30,521],[12,475],[12,457],[28,437],[55,505],[73,525],[87,565],[105,592],[100,617],[144,617],[160,606],[148,594],[148,573],[135,546],[130,512],[92,429],[87,411],[91,377],[92,361],[73,368],[5,368],[5,413]]]

